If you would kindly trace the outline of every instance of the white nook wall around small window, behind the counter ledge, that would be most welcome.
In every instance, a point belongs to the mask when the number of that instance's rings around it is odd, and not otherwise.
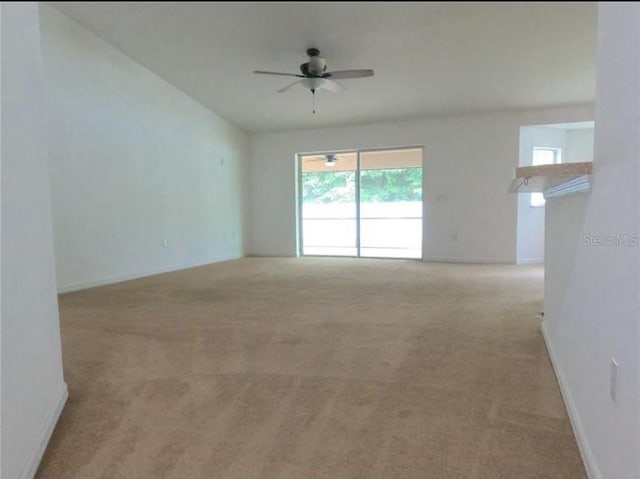
[[[533,163],[534,148],[560,148],[563,160],[567,132],[528,126],[520,129],[520,166]],[[531,206],[531,194],[518,194],[518,263],[544,262],[544,206]]]

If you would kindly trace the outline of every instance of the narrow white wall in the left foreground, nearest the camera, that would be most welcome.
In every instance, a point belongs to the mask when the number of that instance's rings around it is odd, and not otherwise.
[[[66,400],[36,3],[2,2],[2,469],[30,479]]]

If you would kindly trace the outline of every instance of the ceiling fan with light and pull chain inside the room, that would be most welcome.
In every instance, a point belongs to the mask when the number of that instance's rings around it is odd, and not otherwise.
[[[281,72],[268,72],[263,70],[255,70],[253,73],[260,75],[279,75],[297,77],[300,80],[281,88],[278,93],[287,91],[289,88],[295,85],[302,85],[305,88],[311,90],[311,94],[314,96],[317,90],[324,88],[333,93],[340,93],[344,90],[344,87],[336,80],[350,80],[353,78],[365,78],[373,76],[373,70],[338,70],[334,72],[327,71],[327,60],[320,56],[320,50],[317,48],[308,48],[307,55],[309,61],[300,65],[300,73],[281,73]],[[315,113],[315,109],[313,111]]]

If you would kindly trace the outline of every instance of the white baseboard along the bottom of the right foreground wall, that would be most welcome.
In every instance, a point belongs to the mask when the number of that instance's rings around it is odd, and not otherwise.
[[[573,434],[576,437],[576,441],[578,442],[578,449],[580,450],[580,455],[582,456],[584,468],[587,471],[587,477],[589,479],[603,479],[602,474],[600,473],[600,468],[598,467],[598,463],[596,462],[596,458],[593,455],[591,446],[589,445],[587,435],[585,434],[584,428],[582,427],[582,421],[580,420],[580,416],[578,415],[578,410],[576,409],[573,395],[571,394],[571,390],[569,389],[569,384],[567,383],[565,375],[560,368],[558,357],[554,353],[553,345],[547,333],[546,323],[544,321],[542,322],[542,337],[544,338],[544,343],[547,346],[547,352],[549,353],[549,358],[551,359],[551,365],[553,366],[553,371],[556,374],[556,379],[558,381],[558,385],[560,386],[562,399],[564,400],[565,407],[567,408],[567,412],[569,413],[571,427],[573,428]]]

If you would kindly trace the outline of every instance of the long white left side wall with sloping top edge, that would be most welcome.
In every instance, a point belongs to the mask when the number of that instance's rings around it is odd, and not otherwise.
[[[59,289],[242,256],[248,137],[57,10],[41,19]]]

